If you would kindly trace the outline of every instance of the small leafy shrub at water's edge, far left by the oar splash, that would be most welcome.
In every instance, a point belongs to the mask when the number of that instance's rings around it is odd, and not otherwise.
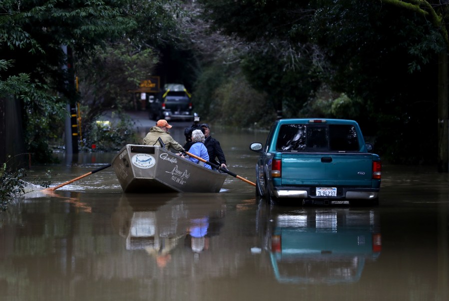
[[[12,171],[6,163],[0,166],[0,211],[6,210],[7,204],[17,195],[24,193],[23,181],[25,170]]]

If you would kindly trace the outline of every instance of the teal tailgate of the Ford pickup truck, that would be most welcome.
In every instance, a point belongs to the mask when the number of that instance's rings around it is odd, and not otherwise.
[[[371,153],[282,153],[282,185],[372,185]]]

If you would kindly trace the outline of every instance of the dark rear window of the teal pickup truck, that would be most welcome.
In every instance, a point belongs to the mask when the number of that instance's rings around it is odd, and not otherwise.
[[[282,125],[277,151],[359,151],[351,125]]]

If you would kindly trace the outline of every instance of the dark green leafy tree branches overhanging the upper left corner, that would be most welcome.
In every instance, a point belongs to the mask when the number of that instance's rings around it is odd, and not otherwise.
[[[73,62],[83,64],[99,48],[111,42],[128,39],[134,49],[145,51],[153,41],[170,39],[176,26],[173,16],[177,1],[170,0],[3,0],[0,3],[0,57],[11,62],[0,70],[0,78],[8,79],[26,74],[28,87],[17,91],[26,112],[26,141],[45,147],[46,136],[36,135],[34,128],[42,112],[63,118],[64,107],[77,100],[73,82]],[[76,60],[67,61],[62,46],[71,49]],[[68,68],[63,68],[67,66]],[[71,87],[71,88],[70,88]],[[39,89],[39,90],[37,90]],[[42,89],[42,90],[40,90]],[[26,90],[38,91],[35,95]],[[44,115],[45,116],[45,115]],[[57,120],[50,116],[48,120]],[[57,126],[60,128],[60,125]],[[4,142],[6,143],[6,142]],[[44,150],[36,150],[46,153]]]

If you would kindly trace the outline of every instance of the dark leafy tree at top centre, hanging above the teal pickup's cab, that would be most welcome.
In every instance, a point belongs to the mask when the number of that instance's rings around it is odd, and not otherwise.
[[[310,19],[304,1],[200,0],[212,29],[246,41],[241,68],[248,82],[267,93],[278,117],[296,115],[320,86],[321,55],[297,30],[298,19]],[[311,70],[314,70],[311,72]]]

